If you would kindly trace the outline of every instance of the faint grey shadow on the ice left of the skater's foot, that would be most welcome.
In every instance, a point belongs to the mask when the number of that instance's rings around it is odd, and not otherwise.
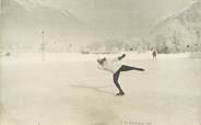
[[[81,89],[91,89],[99,93],[114,94],[110,91],[103,90],[104,88],[110,88],[111,86],[93,87],[93,86],[83,86],[83,84],[71,84],[71,87],[81,88]]]

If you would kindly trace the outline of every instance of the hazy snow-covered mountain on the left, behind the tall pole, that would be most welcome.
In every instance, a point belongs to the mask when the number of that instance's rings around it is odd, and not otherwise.
[[[75,46],[86,41],[91,27],[85,22],[68,9],[49,8],[38,2],[2,0],[0,41],[3,46],[37,50],[43,31],[49,50],[68,49],[72,43]]]

